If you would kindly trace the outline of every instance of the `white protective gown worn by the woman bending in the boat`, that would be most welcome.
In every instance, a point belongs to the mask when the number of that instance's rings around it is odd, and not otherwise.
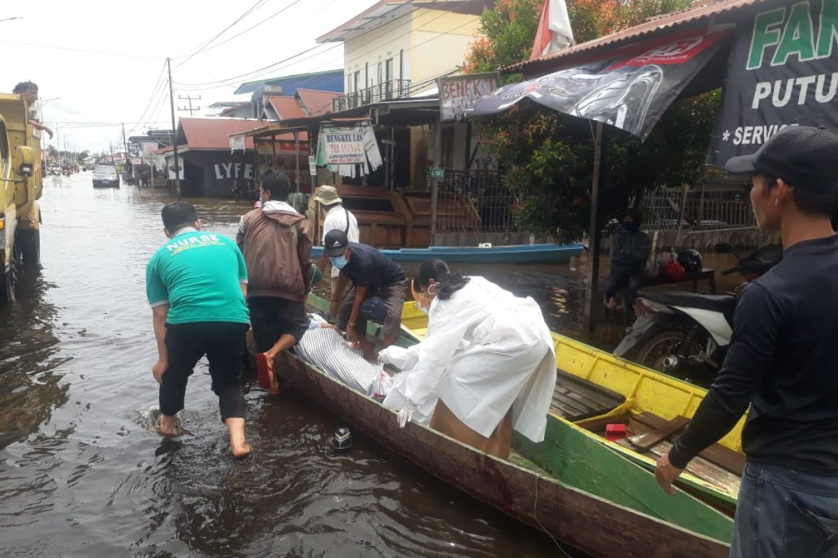
[[[485,438],[512,407],[513,428],[541,442],[556,387],[556,354],[541,308],[482,277],[469,279],[450,299],[433,300],[421,343],[386,350],[404,372],[384,405],[399,410],[409,400],[414,420],[427,423],[442,399]]]

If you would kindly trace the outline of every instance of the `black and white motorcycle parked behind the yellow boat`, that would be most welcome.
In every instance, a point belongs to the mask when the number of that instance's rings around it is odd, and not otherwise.
[[[737,258],[736,267],[722,271],[722,275],[742,274],[745,282],[737,292],[641,291],[638,318],[614,349],[615,356],[702,386],[711,384],[730,346],[738,295],[783,259],[778,244],[763,246],[745,258],[727,243],[716,244],[714,251]]]

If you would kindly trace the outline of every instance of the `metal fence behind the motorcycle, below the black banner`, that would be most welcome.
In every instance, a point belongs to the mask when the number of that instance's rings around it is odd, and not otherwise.
[[[741,182],[708,183],[702,187],[660,188],[644,195],[644,228],[650,230],[712,230],[755,225],[749,187]],[[681,209],[683,206],[683,212]]]

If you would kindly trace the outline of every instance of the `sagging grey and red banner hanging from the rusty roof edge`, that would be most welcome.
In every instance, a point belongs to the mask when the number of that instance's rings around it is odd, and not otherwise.
[[[501,87],[479,99],[470,114],[494,114],[530,99],[645,140],[726,36],[727,31],[691,33],[618,49],[595,62]]]

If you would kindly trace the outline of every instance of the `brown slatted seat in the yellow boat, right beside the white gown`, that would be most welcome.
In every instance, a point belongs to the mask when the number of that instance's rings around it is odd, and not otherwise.
[[[597,386],[579,376],[556,370],[556,389],[551,412],[571,422],[597,417],[613,411],[625,402],[617,392]]]

